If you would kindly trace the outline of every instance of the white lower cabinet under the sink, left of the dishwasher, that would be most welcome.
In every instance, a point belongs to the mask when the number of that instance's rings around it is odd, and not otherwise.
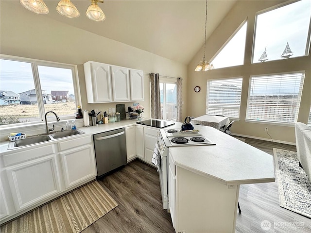
[[[92,135],[0,156],[0,223],[96,178]]]

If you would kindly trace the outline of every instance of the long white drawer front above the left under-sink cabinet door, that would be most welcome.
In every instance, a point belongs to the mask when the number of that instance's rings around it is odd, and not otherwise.
[[[42,156],[50,155],[53,153],[55,153],[54,146],[48,145],[30,150],[23,150],[14,154],[4,155],[3,162],[4,166],[11,166],[28,160],[40,158]]]

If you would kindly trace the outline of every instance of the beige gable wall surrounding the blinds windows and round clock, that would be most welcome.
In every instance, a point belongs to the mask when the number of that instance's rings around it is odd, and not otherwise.
[[[282,3],[284,1],[238,1],[228,15],[224,18],[218,28],[212,33],[207,40],[206,59],[209,60],[223,46],[226,40],[239,27],[243,20],[247,19],[247,35],[245,45],[244,65],[236,67],[227,67],[214,69],[207,72],[194,72],[198,62],[202,60],[203,51],[198,51],[196,56],[188,65],[188,108],[187,114],[191,116],[205,115],[206,109],[206,90],[208,79],[220,79],[230,77],[243,77],[242,83],[242,100],[240,121],[234,122],[232,132],[270,139],[264,131],[265,127],[269,128],[269,134],[276,141],[295,142],[294,127],[267,125],[258,123],[246,123],[246,105],[248,95],[248,85],[250,75],[273,74],[289,71],[305,70],[306,76],[302,92],[302,100],[299,110],[298,121],[306,123],[308,121],[311,105],[311,55],[305,57],[296,57],[287,60],[267,61],[265,63],[251,64],[252,45],[255,25],[256,12]],[[195,86],[201,86],[199,93],[194,92]]]

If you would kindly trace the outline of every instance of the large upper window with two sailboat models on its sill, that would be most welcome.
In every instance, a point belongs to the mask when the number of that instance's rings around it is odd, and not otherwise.
[[[310,0],[293,2],[258,14],[253,63],[307,56],[310,17]]]

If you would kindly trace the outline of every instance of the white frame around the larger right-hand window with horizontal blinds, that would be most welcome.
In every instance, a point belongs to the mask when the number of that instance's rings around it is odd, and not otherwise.
[[[256,120],[256,119],[248,119],[247,118],[247,113],[249,109],[249,101],[250,101],[250,92],[251,92],[251,79],[255,77],[265,77],[265,76],[277,76],[277,75],[286,75],[286,74],[296,74],[296,73],[304,73],[303,77],[303,83],[301,87],[301,95],[300,95],[300,102],[297,110],[297,115],[296,115],[296,121],[294,122],[277,122],[277,121],[268,121],[268,120]],[[248,86],[248,94],[247,94],[247,104],[246,104],[246,112],[245,112],[245,122],[247,123],[258,123],[258,124],[269,124],[269,125],[279,125],[279,126],[289,126],[289,127],[294,127],[294,123],[297,122],[298,116],[299,116],[299,110],[301,107],[301,98],[302,98],[302,90],[304,86],[304,80],[306,77],[306,71],[305,70],[297,70],[297,71],[290,71],[290,72],[281,72],[281,73],[270,73],[270,74],[260,74],[260,75],[251,75],[249,77],[249,86]]]

